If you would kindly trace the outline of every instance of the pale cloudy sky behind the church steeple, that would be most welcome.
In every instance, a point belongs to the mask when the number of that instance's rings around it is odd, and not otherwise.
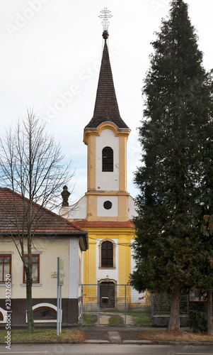
[[[188,0],[189,16],[199,38],[206,70],[213,67],[212,0]],[[0,136],[26,116],[27,108],[46,122],[71,160],[75,175],[69,204],[84,196],[87,147],[84,127],[93,116],[103,27],[100,11],[113,16],[108,48],[120,115],[131,129],[127,143],[127,190],[142,148],[142,87],[149,68],[154,32],[168,16],[169,0],[0,0]]]

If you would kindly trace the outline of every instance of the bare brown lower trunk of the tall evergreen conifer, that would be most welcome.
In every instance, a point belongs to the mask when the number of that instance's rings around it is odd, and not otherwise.
[[[175,288],[171,298],[171,312],[168,321],[168,332],[180,329],[180,288]]]

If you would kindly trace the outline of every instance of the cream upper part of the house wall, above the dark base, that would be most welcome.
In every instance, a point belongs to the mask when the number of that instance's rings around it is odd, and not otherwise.
[[[57,257],[64,259],[64,286],[62,287],[62,297],[68,297],[69,283],[69,238],[47,237],[47,239],[35,238],[32,253],[40,254],[40,283],[33,284],[33,297],[43,298],[57,297],[57,278],[52,278],[52,273],[57,272]],[[11,252],[12,256],[12,275],[11,275],[11,296],[18,298],[25,297],[25,284],[23,284],[23,263],[16,250],[13,241],[6,238],[0,241],[0,252]],[[27,253],[27,249],[25,249]],[[5,297],[5,286],[0,284],[0,298]]]

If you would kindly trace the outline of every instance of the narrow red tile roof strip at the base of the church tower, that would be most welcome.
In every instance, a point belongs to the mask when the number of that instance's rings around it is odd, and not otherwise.
[[[81,228],[134,228],[132,221],[127,222],[93,222],[93,221],[78,221],[73,222]]]

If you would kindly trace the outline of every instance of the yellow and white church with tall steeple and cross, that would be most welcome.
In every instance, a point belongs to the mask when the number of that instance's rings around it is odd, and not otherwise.
[[[83,283],[101,287],[99,295],[87,288],[86,310],[95,310],[97,302],[100,308],[122,310],[125,285],[128,308],[134,310],[146,305],[146,297],[129,285],[129,274],[134,268],[132,217],[136,215],[134,199],[127,192],[130,129],[120,116],[108,52],[108,27],[103,29],[104,47],[95,108],[84,128],[84,144],[88,147],[87,192],[73,206],[64,198],[59,214],[88,231]],[[62,194],[68,198],[67,187]]]

